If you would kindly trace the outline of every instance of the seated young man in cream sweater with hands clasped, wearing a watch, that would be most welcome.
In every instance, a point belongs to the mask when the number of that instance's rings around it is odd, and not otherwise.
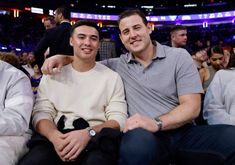
[[[21,161],[23,165],[74,161],[79,164],[113,163],[109,158],[113,153],[103,154],[100,146],[97,149],[91,143],[99,143],[96,138],[99,136],[110,140],[115,134],[113,130],[119,132],[124,127],[127,106],[122,80],[116,72],[95,62],[99,47],[95,22],[74,24],[70,45],[74,50],[73,63],[59,74],[43,76],[39,85],[32,122],[45,139],[41,143],[36,141]],[[111,129],[105,132],[103,128]],[[34,138],[32,141],[35,142]]]

